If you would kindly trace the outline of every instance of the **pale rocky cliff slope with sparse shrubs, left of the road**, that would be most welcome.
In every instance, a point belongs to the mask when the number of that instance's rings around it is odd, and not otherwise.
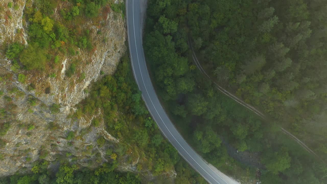
[[[105,147],[98,147],[96,140],[104,137],[111,142],[109,147],[119,140],[106,132],[103,122],[99,127],[91,127],[94,117],[72,121],[68,115],[88,95],[92,82],[101,74],[115,71],[126,51],[125,20],[120,14],[110,11],[101,22],[101,34],[97,34],[100,28],[88,20],[80,27],[91,30],[90,39],[94,44],[91,52],[80,49],[75,56],[62,54],[61,67],[14,72],[10,69],[11,61],[5,57],[5,50],[13,42],[27,45],[27,24],[23,12],[33,2],[17,0],[9,8],[10,2],[0,0],[0,125],[10,125],[8,132],[0,136],[0,176],[11,175],[18,170],[30,171],[32,163],[39,158],[54,161],[66,156],[80,165],[94,167],[106,161]],[[60,3],[57,8],[60,8]],[[54,10],[55,18],[59,17],[57,8]],[[78,60],[79,65],[75,74],[67,77],[65,70],[74,60]],[[26,75],[25,83],[18,82],[20,73]],[[48,77],[49,73],[55,73],[56,77]],[[35,90],[29,90],[31,84]],[[45,93],[46,89],[49,94]],[[53,104],[59,104],[59,112],[55,112]],[[73,141],[67,138],[69,132],[75,133]],[[126,167],[132,168],[130,165]]]

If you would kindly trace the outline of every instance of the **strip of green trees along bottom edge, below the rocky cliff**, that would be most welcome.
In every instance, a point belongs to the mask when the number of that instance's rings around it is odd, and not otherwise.
[[[45,167],[46,168],[46,167]],[[114,172],[110,164],[103,164],[95,170],[80,169],[77,165],[62,164],[57,173],[50,173],[44,167],[32,175],[12,175],[0,178],[1,184],[140,184],[141,179],[132,173]]]

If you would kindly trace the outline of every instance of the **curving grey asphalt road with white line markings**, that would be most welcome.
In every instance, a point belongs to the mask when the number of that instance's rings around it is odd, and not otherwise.
[[[126,1],[127,30],[131,64],[134,78],[142,98],[146,103],[151,116],[158,124],[160,130],[169,142],[177,149],[179,154],[211,184],[231,184],[226,182],[226,175],[216,174],[209,165],[187,144],[175,126],[169,120],[153,89],[142,47],[140,27],[140,0]],[[223,179],[225,178],[225,180]]]

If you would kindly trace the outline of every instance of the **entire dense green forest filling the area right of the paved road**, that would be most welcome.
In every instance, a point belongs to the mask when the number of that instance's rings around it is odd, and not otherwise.
[[[226,174],[269,184],[327,182],[326,165],[278,128],[306,130],[302,135],[318,128],[310,146],[326,150],[325,4],[149,0],[144,47],[158,96],[188,142]],[[189,38],[219,84],[272,120],[217,91],[193,64]],[[231,147],[257,164],[232,158]]]

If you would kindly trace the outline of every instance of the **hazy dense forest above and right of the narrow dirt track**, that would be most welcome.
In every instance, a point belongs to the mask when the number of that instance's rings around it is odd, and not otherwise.
[[[193,2],[186,17],[201,64],[220,84],[326,154],[319,141],[327,131],[327,2],[205,2]]]

